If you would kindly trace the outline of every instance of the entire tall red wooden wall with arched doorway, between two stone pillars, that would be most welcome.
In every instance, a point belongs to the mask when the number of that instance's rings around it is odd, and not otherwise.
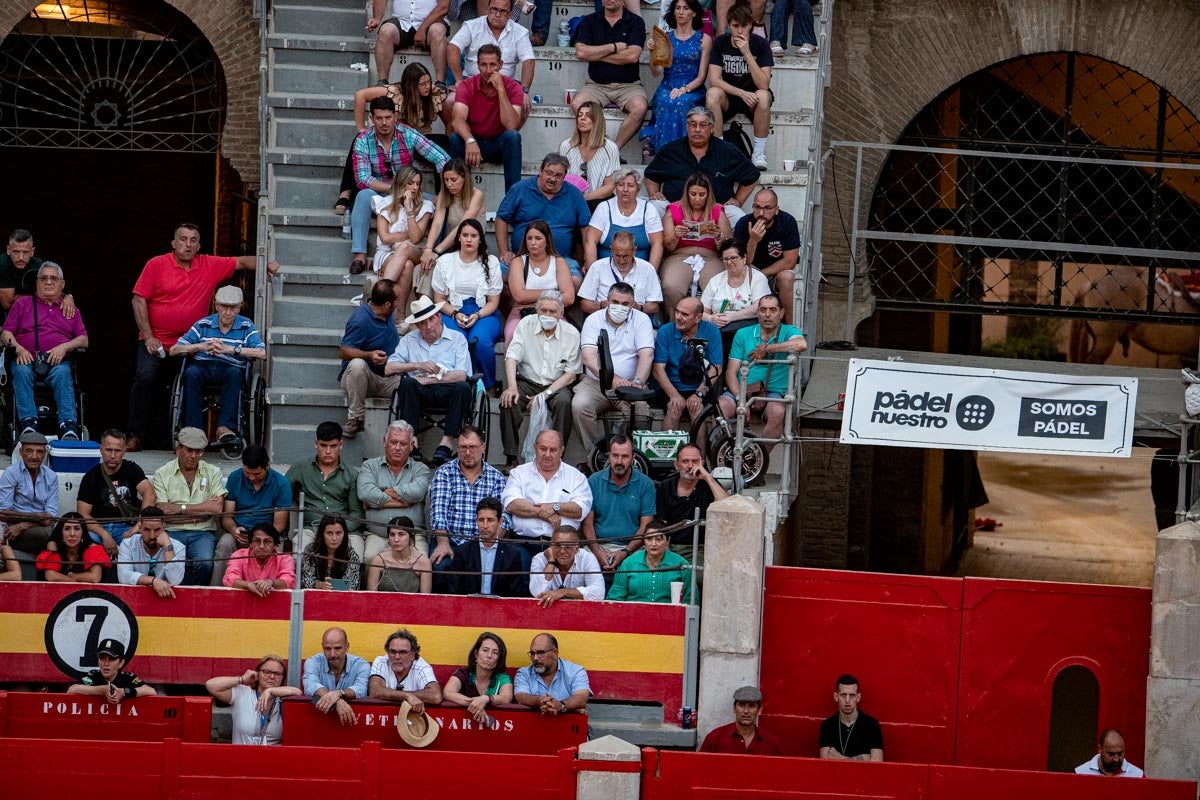
[[[815,756],[848,672],[889,762],[1044,769],[1055,678],[1080,664],[1100,686],[1099,727],[1121,728],[1142,764],[1148,649],[1145,589],[770,567],[763,724]]]

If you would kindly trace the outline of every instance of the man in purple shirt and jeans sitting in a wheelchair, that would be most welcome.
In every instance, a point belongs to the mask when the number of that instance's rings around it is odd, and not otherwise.
[[[37,294],[17,297],[0,332],[0,344],[14,347],[17,362],[12,367],[13,395],[17,404],[17,429],[37,431],[37,403],[34,384],[43,383],[54,391],[59,411],[59,433],[64,439],[79,438],[76,410],[74,377],[67,354],[88,347],[83,314],[67,319],[62,308],[62,267],[44,261],[37,270]]]

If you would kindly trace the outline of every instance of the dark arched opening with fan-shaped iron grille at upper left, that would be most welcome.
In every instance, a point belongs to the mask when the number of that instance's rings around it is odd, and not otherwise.
[[[162,0],[42,4],[0,43],[0,236],[29,229],[66,271],[92,431],[126,421],[143,264],[180,219],[204,225],[205,252],[229,239],[212,229],[218,187],[241,191],[220,163],[224,109],[212,47]]]

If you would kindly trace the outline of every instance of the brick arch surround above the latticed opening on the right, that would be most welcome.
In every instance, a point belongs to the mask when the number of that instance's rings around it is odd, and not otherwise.
[[[1200,108],[1200,64],[1190,56],[1198,32],[1200,7],[1184,2],[838,0],[824,138],[895,143],[923,108],[964,78],[1056,50],[1123,65],[1189,108]],[[882,155],[864,160],[864,197],[875,192],[883,161]],[[847,198],[853,197],[853,173],[846,162],[826,170],[826,273],[850,270],[841,233],[852,227]],[[860,215],[862,221],[866,204]],[[856,303],[862,317],[871,311],[864,279],[859,270],[858,293],[866,300]],[[845,295],[838,294],[822,288],[821,338],[841,338]]]

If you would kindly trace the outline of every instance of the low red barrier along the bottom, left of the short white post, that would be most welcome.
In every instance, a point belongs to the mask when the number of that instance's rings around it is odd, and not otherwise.
[[[106,788],[121,800],[575,796],[560,756],[392,751],[376,742],[349,750],[70,740],[48,748],[42,739],[0,739],[0,763],[6,798],[95,796]]]

